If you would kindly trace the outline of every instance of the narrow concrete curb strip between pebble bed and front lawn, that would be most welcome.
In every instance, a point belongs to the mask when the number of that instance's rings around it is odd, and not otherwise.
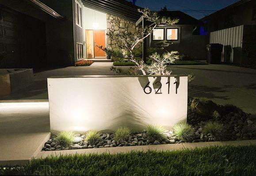
[[[46,158],[48,156],[59,156],[68,154],[116,154],[128,153],[130,151],[173,151],[182,149],[193,149],[210,146],[249,146],[256,145],[256,140],[244,141],[224,141],[224,142],[202,142],[202,143],[178,143],[178,144],[161,144],[147,146],[129,146],[129,147],[110,147],[110,148],[95,148],[95,149],[77,149],[77,150],[58,150],[58,151],[41,151],[35,158]]]

